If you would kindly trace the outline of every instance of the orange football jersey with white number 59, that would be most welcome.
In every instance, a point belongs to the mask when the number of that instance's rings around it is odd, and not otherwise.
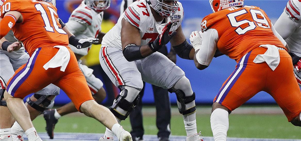
[[[271,27],[266,13],[255,6],[226,8],[207,15],[201,23],[203,32],[210,28],[218,32],[217,48],[237,62],[260,45],[285,48]]]

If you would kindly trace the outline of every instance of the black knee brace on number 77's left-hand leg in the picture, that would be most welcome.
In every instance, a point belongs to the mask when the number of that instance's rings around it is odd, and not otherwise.
[[[117,95],[116,99],[113,102],[113,105],[109,109],[114,114],[114,116],[116,116],[116,118],[120,120],[125,120],[129,116],[132,109],[138,104],[139,95],[135,98],[133,102],[129,102],[125,99],[128,95],[128,90],[126,90],[123,85],[118,86],[118,88],[121,92],[119,95]],[[116,107],[120,107],[121,109],[127,111],[126,114],[123,115],[119,113],[116,110]]]

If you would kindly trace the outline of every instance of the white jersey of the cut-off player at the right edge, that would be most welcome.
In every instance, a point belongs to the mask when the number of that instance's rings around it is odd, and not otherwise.
[[[290,35],[285,41],[288,44],[290,51],[301,54],[301,1],[289,0],[284,12],[290,17],[297,25],[298,28]],[[284,21],[285,22],[285,21]]]

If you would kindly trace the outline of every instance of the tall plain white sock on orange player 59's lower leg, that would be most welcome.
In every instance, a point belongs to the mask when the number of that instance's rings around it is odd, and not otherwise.
[[[211,113],[210,123],[214,141],[226,141],[229,128],[228,111],[217,108]]]

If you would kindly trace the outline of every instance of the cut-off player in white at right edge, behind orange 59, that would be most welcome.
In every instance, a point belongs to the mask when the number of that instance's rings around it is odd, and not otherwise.
[[[293,59],[294,73],[301,86],[301,1],[289,0],[284,12],[275,23],[276,31],[283,37],[290,47]]]

